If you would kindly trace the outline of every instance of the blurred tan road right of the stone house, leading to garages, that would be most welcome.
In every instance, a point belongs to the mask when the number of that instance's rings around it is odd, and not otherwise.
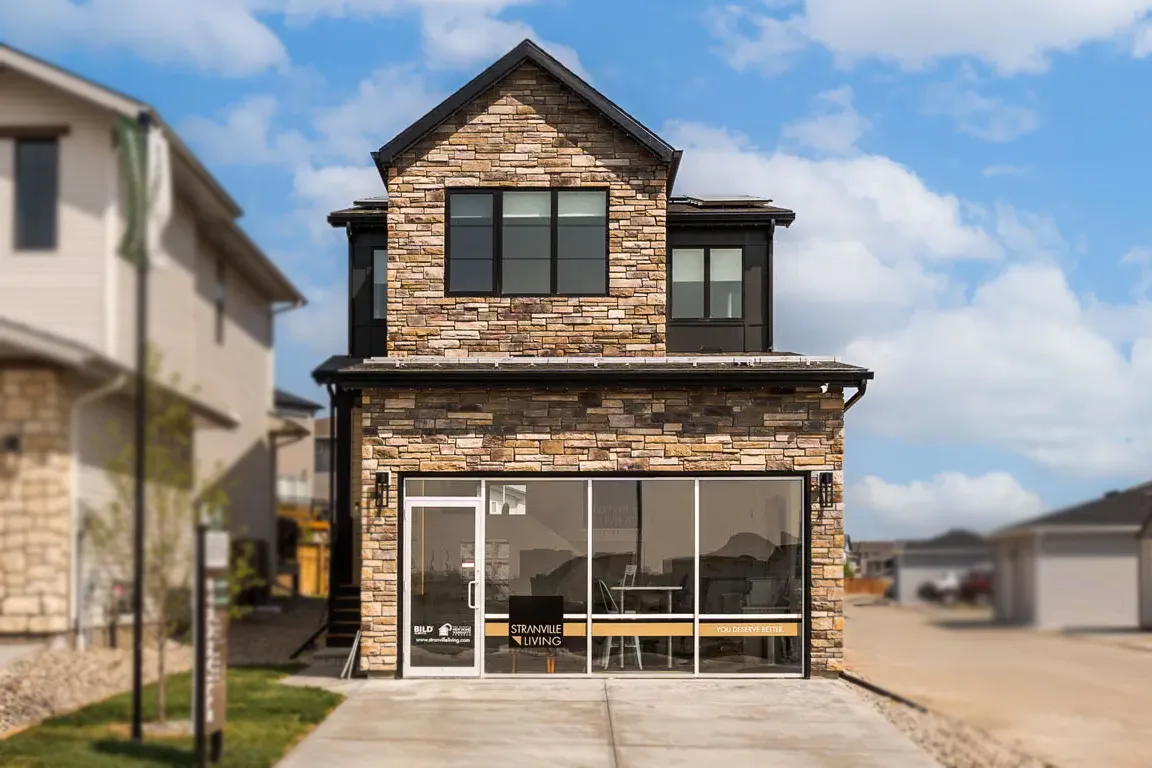
[[[967,616],[849,604],[848,667],[1060,768],[1152,766],[1152,653]]]

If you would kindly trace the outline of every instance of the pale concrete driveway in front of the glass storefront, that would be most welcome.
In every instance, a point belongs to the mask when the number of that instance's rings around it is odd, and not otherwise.
[[[363,680],[280,768],[939,768],[839,680]]]

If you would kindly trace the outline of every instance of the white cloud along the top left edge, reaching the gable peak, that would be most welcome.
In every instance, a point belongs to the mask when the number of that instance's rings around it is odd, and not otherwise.
[[[66,50],[69,46],[129,48],[159,63],[247,76],[287,69],[283,41],[270,17],[306,24],[319,17],[377,17],[415,13],[426,63],[469,68],[506,53],[528,24],[501,14],[536,0],[33,0],[0,3],[0,29],[14,45]],[[582,74],[573,48],[537,41]]]

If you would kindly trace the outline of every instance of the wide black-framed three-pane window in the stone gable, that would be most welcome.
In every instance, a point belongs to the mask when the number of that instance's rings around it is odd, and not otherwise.
[[[453,190],[446,254],[448,294],[604,296],[608,193]]]

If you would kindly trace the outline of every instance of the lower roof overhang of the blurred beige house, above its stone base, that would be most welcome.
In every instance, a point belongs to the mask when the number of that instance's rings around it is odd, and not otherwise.
[[[132,368],[83,344],[0,318],[0,362],[5,359],[41,363],[100,381],[135,374]],[[188,405],[197,426],[230,429],[240,424],[235,415],[220,410],[194,393],[164,382],[153,381],[152,386]]]

